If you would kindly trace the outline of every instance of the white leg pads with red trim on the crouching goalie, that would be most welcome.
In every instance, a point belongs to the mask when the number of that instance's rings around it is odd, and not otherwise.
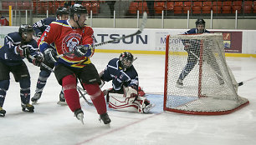
[[[124,94],[109,92],[109,107],[124,112],[149,112],[155,107],[146,97],[145,92],[139,87],[138,92],[132,87],[123,87]]]

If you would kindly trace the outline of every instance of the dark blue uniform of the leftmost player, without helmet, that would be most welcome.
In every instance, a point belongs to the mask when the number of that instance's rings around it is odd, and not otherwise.
[[[9,33],[4,38],[4,46],[0,48],[0,107],[3,107],[3,102],[10,84],[10,75],[12,72],[16,82],[20,83],[20,97],[23,104],[28,104],[30,99],[30,76],[28,67],[19,52],[17,47],[27,46],[31,56],[38,56],[37,42],[32,39],[30,42],[23,42],[23,38],[18,32]],[[32,62],[28,57],[28,61]]]

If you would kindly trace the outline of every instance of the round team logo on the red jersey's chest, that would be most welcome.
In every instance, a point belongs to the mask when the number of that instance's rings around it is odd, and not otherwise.
[[[71,52],[74,50],[74,47],[79,45],[81,40],[81,35],[79,33],[69,33],[68,36],[64,37],[62,42],[62,51]],[[74,54],[68,55],[68,57],[74,57]]]

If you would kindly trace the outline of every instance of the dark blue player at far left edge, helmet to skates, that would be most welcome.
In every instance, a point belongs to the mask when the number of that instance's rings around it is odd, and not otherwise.
[[[0,116],[5,116],[3,103],[10,85],[10,72],[20,84],[21,106],[24,112],[33,112],[30,100],[30,75],[23,58],[28,58],[36,66],[44,61],[38,44],[33,39],[33,27],[23,24],[18,32],[11,32],[4,38],[4,46],[0,48]]]

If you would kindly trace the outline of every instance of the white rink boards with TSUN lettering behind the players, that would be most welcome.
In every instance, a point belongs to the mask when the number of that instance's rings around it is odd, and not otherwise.
[[[95,43],[112,40],[114,37],[121,37],[136,32],[137,28],[93,28],[95,31]],[[209,31],[223,32],[243,32],[242,53],[256,54],[256,30],[219,30],[208,29]],[[4,37],[9,32],[18,31],[18,27],[1,27],[0,28],[0,47],[3,46]],[[98,49],[110,50],[140,50],[140,51],[165,51],[166,36],[168,34],[181,34],[187,29],[151,29],[146,28],[140,35],[120,40],[115,44],[105,44],[97,47]]]

